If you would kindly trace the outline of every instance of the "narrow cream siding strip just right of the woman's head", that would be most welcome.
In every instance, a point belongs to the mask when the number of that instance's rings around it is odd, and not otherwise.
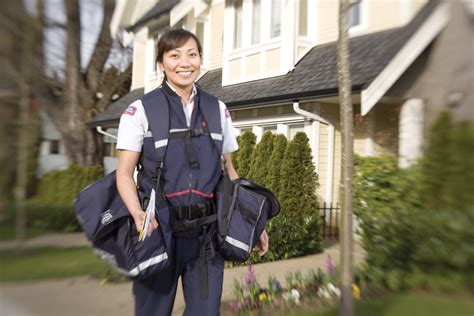
[[[222,68],[222,38],[224,33],[224,2],[213,4],[211,8],[211,47],[209,69]]]

